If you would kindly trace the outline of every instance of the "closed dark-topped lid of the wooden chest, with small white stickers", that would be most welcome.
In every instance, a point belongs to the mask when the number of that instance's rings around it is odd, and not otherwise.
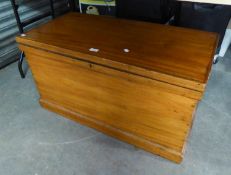
[[[215,33],[69,13],[17,37],[23,45],[203,91]]]

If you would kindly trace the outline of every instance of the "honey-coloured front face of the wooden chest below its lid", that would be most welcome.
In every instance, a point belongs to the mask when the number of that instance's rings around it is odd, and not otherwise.
[[[84,117],[84,124],[93,122],[106,134],[117,137],[118,131],[117,138],[126,135],[122,140],[128,143],[182,160],[198,100],[182,96],[171,84],[26,46],[22,49],[43,107],[76,121]]]

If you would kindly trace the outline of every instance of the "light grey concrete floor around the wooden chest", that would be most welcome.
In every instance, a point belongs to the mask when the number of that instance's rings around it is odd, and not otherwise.
[[[180,165],[42,109],[30,72],[0,70],[0,175],[215,174],[231,174],[231,51],[213,67]]]

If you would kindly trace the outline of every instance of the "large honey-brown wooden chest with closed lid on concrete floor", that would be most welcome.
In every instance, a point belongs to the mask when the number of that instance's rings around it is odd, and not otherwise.
[[[17,37],[40,104],[181,162],[218,36],[70,13]]]

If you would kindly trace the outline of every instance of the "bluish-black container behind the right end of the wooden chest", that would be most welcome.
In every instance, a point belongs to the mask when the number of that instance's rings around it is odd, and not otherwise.
[[[231,6],[185,2],[178,26],[219,33],[220,46],[230,17]]]

